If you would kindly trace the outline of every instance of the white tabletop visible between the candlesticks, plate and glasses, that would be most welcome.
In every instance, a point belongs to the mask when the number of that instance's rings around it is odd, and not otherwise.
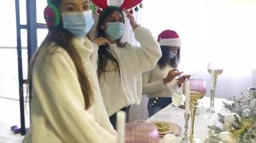
[[[198,100],[198,104],[201,104],[201,109],[198,112],[199,114],[195,115],[195,121],[194,121],[194,137],[197,139],[200,139],[200,142],[205,142],[207,133],[209,131],[208,126],[216,125],[218,124],[218,114],[220,113],[224,108],[224,103],[228,102],[227,99],[221,99],[221,98],[215,98],[214,99],[214,113],[207,112],[210,107],[210,98],[209,97],[203,97],[202,99]],[[159,112],[154,114],[152,117],[148,118],[146,122],[170,122],[173,124],[178,125],[180,127],[180,132],[178,134],[175,134],[178,142],[182,140],[184,137],[184,125],[185,125],[185,118],[184,118],[184,112],[185,109],[178,109],[177,114],[175,113],[175,108],[173,104],[169,104],[167,107],[161,109]],[[220,124],[220,123],[219,123]],[[190,137],[191,134],[191,117],[188,120],[188,137]],[[163,137],[160,137],[160,142],[163,139]]]

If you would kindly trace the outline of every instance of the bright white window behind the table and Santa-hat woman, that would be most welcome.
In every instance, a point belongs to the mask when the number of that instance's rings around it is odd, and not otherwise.
[[[162,0],[143,1],[142,25],[155,39],[173,29],[182,40],[179,69],[194,78],[206,79],[209,61],[220,61],[216,94],[239,94],[250,87],[256,69],[256,1],[250,0]],[[238,88],[237,88],[238,87]]]

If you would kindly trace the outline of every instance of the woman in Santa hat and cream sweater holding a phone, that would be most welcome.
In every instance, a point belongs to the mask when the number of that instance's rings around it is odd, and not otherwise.
[[[181,44],[178,34],[173,30],[165,30],[159,34],[157,41],[163,56],[154,69],[142,74],[142,94],[150,98],[147,103],[149,117],[172,103],[172,92],[181,87],[188,77],[178,77],[182,74],[177,70]]]

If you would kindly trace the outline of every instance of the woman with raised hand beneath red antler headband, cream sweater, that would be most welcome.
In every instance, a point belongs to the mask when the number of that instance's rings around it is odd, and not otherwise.
[[[99,84],[106,111],[114,126],[116,112],[126,110],[128,119],[129,106],[140,104],[142,72],[150,71],[161,57],[160,46],[150,30],[138,25],[129,11],[124,9],[124,12],[140,46],[120,42],[124,31],[124,15],[117,6],[104,9],[96,27],[99,41],[104,41],[98,42],[101,45],[98,59]]]

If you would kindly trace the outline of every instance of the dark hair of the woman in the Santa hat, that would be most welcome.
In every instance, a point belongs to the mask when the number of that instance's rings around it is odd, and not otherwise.
[[[180,48],[177,51],[176,56],[173,59],[170,59],[170,46],[160,46],[162,51],[162,57],[159,59],[157,64],[160,66],[160,69],[165,68],[167,64],[173,68],[177,68],[180,62]]]

